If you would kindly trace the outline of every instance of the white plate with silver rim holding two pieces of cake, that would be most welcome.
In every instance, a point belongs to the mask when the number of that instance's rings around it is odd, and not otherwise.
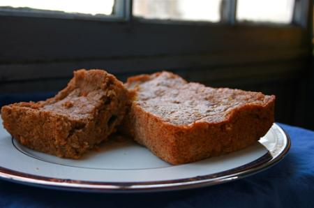
[[[1,122],[1,119],[0,119]],[[0,177],[32,186],[73,191],[165,191],[220,184],[280,161],[290,139],[274,124],[251,147],[185,165],[170,165],[130,140],[105,142],[80,160],[33,151],[0,127]]]

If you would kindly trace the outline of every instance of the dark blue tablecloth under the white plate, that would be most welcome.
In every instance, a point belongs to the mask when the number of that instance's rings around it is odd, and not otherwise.
[[[0,207],[314,207],[314,132],[280,125],[292,140],[290,152],[274,167],[245,179],[132,194],[75,193],[0,181]]]

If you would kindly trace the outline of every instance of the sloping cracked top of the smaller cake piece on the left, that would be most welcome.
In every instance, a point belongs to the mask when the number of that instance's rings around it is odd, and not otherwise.
[[[104,70],[77,70],[74,77],[54,98],[33,105],[20,103],[20,106],[61,114],[69,119],[88,119],[100,105],[110,103],[110,97],[114,96],[111,84],[123,87],[122,82]]]

